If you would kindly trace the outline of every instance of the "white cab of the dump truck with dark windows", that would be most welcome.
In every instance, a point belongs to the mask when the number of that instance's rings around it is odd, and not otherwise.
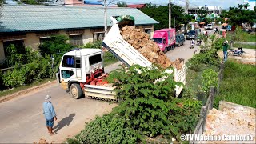
[[[103,73],[102,50],[74,50],[62,57],[59,66],[59,83],[63,89],[70,89],[72,93],[72,88],[76,85],[90,84],[93,78],[102,76]]]

